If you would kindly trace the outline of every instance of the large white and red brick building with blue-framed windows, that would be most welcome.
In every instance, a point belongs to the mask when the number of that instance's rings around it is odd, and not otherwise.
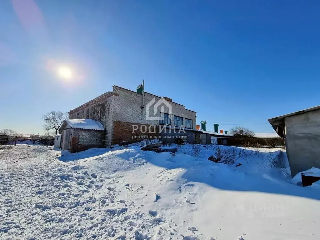
[[[153,106],[157,104],[159,106],[154,109]],[[148,108],[149,105],[152,105],[152,107]],[[154,94],[143,92],[141,88],[134,92],[119,86],[113,86],[112,92],[106,92],[70,110],[69,118],[92,119],[101,123],[103,131],[101,131],[100,145],[102,147],[109,147],[121,141],[140,141],[133,139],[132,136],[164,135],[170,134],[169,131],[172,134],[188,136],[190,132],[196,131],[195,111],[186,109],[183,105],[173,102],[170,98],[161,98]],[[180,126],[183,127],[184,132],[178,133],[178,130],[174,129],[177,127],[179,129]],[[163,133],[164,131],[159,133],[159,128],[166,128],[168,133]],[[74,129],[73,131],[72,134],[74,135],[79,130]],[[175,131],[176,133],[173,133]],[[83,130],[81,132],[81,134],[85,134]],[[93,137],[89,139],[92,141]],[[191,138],[188,141],[193,140]],[[95,144],[99,145],[97,142],[92,146]]]

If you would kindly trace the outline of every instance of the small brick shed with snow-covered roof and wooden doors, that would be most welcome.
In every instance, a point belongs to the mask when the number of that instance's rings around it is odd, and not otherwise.
[[[66,119],[60,126],[61,150],[70,153],[102,147],[104,127],[92,119]]]

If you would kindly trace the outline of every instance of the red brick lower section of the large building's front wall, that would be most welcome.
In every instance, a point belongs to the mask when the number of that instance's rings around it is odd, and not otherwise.
[[[132,133],[132,125],[137,125],[138,130],[135,130],[134,133]],[[140,132],[141,125],[147,126],[147,132]],[[120,121],[113,121],[113,138],[112,138],[112,145],[118,144],[122,141],[127,142],[140,142],[144,139],[132,139],[132,136],[158,136],[159,135],[159,128],[156,126],[156,133],[152,133],[154,131],[154,127],[151,127],[151,131],[149,132],[149,126],[150,124],[138,124],[138,123],[128,123],[128,122],[120,122]],[[144,131],[145,128],[142,128],[142,131]]]

